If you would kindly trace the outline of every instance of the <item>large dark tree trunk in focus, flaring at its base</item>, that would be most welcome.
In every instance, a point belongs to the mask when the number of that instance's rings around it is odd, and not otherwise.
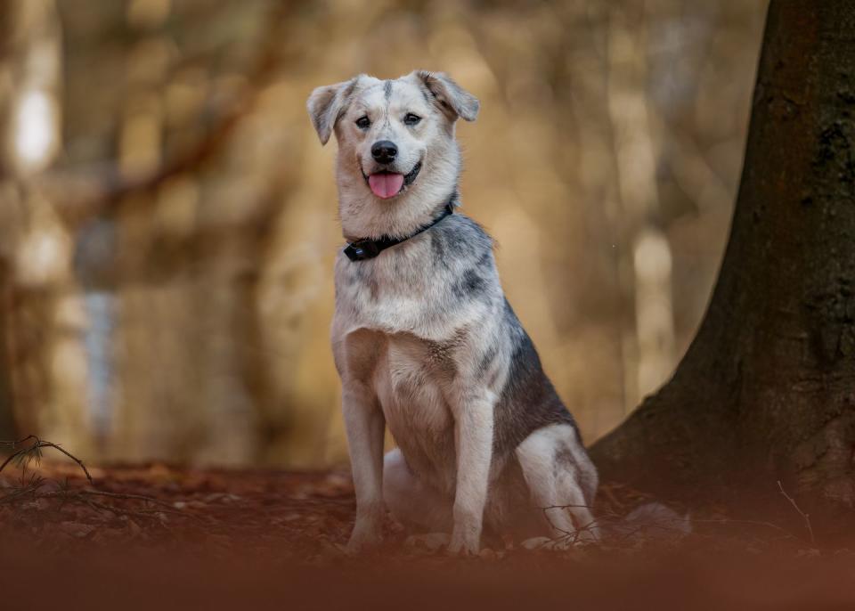
[[[603,477],[733,506],[781,480],[855,521],[853,113],[855,3],[772,0],[718,283],[672,379],[593,446]]]

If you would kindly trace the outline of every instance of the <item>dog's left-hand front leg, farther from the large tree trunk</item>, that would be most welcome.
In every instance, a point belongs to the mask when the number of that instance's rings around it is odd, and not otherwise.
[[[357,552],[376,546],[382,538],[386,419],[373,389],[363,383],[345,385],[342,411],[356,492],[356,524],[347,550]]]

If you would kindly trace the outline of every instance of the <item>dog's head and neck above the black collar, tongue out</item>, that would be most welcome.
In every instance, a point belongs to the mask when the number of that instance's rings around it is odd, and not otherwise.
[[[322,144],[333,132],[338,140],[342,222],[382,217],[392,225],[387,233],[403,232],[399,225],[444,203],[460,172],[454,124],[475,120],[478,106],[452,78],[425,70],[395,80],[360,75],[315,89],[308,100],[314,128]],[[362,223],[346,217],[357,211]]]

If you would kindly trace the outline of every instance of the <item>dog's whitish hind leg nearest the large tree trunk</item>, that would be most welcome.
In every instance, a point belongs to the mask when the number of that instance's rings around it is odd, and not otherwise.
[[[574,428],[560,424],[533,432],[517,447],[517,460],[534,509],[542,512],[553,536],[599,539],[590,511],[597,475]]]

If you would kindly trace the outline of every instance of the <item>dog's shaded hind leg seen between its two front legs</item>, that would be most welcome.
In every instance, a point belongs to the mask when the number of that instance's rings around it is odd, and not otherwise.
[[[392,516],[411,532],[452,530],[452,499],[420,482],[397,448],[383,459],[383,498]]]

